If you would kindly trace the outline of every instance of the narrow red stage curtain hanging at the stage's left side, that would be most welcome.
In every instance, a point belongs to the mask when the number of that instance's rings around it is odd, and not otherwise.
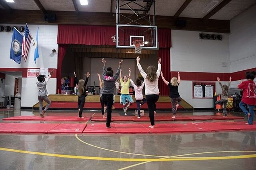
[[[61,67],[62,67],[62,60],[66,54],[66,50],[68,48],[68,44],[59,44],[58,49],[58,66],[57,66],[57,93],[61,94]]]

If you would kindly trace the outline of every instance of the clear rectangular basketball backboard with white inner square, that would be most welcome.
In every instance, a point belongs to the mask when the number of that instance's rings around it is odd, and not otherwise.
[[[116,24],[116,48],[133,48],[135,40],[144,42],[142,49],[158,49],[157,26]]]

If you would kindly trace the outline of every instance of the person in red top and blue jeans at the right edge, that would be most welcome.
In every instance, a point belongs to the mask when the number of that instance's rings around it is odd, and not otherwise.
[[[243,97],[242,101],[239,103],[239,107],[244,112],[244,115],[248,116],[248,123],[249,125],[252,125],[253,123],[253,117],[254,117],[254,106],[256,105],[256,94],[255,94],[255,78],[256,72],[255,71],[248,71],[245,73],[245,77],[247,81],[241,80],[241,83],[238,85],[239,89],[243,89]],[[246,108],[246,105],[249,107],[249,112]]]

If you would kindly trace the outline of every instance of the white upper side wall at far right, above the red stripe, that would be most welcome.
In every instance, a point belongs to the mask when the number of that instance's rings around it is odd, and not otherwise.
[[[230,20],[231,72],[256,67],[256,5]]]

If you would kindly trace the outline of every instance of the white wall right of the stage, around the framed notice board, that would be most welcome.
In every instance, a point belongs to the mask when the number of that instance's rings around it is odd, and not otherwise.
[[[172,30],[171,71],[230,73],[228,34],[221,33],[222,41],[217,41],[200,40],[199,33],[202,32]],[[222,63],[226,63],[227,67],[223,67]],[[216,92],[221,93],[217,81]],[[213,107],[213,99],[193,99],[192,81],[182,81],[179,93],[194,108]]]

